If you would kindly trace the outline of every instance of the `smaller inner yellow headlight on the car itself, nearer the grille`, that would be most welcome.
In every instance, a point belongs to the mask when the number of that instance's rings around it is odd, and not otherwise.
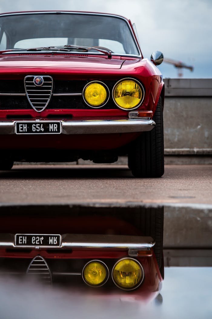
[[[106,87],[99,82],[92,82],[85,87],[83,93],[85,102],[94,108],[98,108],[106,103],[109,93]]]

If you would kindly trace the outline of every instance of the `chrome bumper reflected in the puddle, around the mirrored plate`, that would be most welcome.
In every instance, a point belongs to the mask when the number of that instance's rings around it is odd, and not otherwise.
[[[61,235],[61,249],[150,249],[155,242],[152,237],[126,236],[126,235],[87,235],[87,234],[64,234]],[[15,246],[15,235],[0,234],[0,248],[48,248],[55,246]]]

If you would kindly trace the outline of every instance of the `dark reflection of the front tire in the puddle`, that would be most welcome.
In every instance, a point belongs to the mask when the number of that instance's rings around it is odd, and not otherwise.
[[[163,214],[164,208],[145,208],[141,214],[141,232],[144,236],[151,236],[154,241],[154,254],[158,262],[161,275],[163,274]]]

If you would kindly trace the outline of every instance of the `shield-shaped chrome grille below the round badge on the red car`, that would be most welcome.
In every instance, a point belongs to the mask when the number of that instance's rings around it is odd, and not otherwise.
[[[41,86],[37,86],[34,84],[33,80],[34,76],[27,76],[25,78],[24,84],[26,95],[31,106],[36,111],[41,112],[50,100],[53,81],[50,76],[43,76],[43,84]]]

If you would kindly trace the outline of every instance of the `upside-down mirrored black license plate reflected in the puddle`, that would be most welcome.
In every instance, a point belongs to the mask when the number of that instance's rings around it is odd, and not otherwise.
[[[60,235],[16,234],[15,246],[60,246]]]

